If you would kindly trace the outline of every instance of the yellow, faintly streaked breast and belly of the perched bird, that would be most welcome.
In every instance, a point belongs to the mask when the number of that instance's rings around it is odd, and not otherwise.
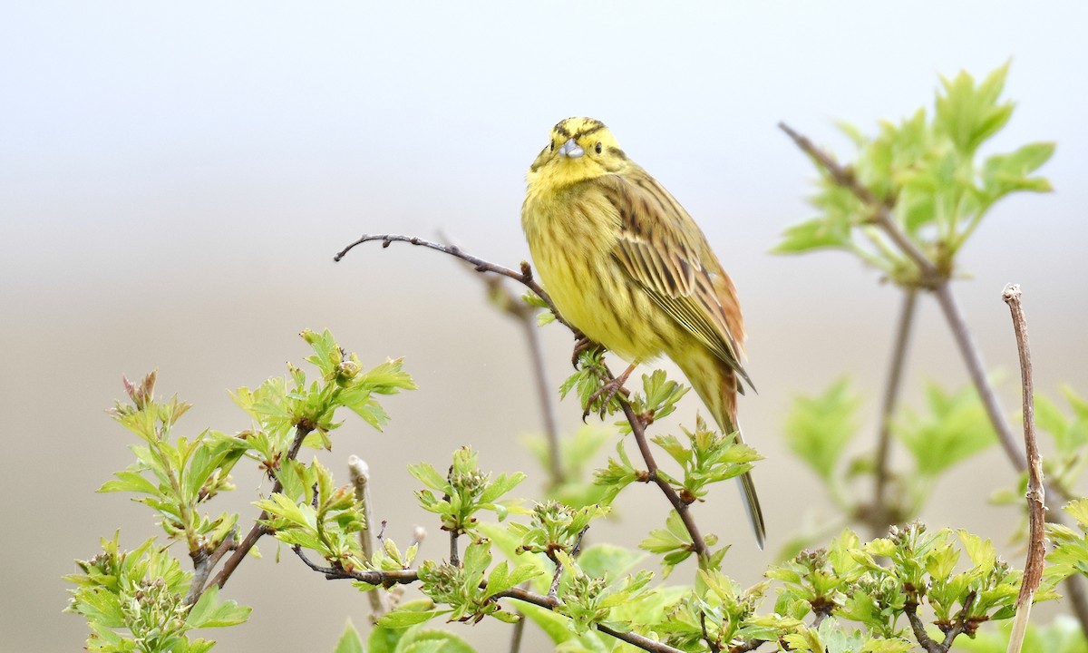
[[[616,207],[593,181],[534,186],[530,184],[521,221],[536,273],[556,308],[591,340],[628,360],[658,356],[676,326],[616,261]]]

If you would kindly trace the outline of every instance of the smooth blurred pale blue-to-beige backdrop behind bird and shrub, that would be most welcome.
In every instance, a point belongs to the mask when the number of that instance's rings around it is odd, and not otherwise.
[[[416,508],[405,466],[447,465],[471,444],[483,467],[524,469],[519,495],[545,475],[520,444],[541,430],[519,328],[448,257],[409,246],[333,254],[363,232],[436,237],[517,267],[523,174],[551,126],[598,118],[700,222],[741,292],[749,370],[742,401],[769,546],[757,552],[731,486],[700,506],[706,529],[735,542],[726,567],[752,583],[775,550],[832,515],[815,477],[782,444],[792,397],[846,374],[866,401],[867,446],[889,358],[899,294],[840,254],[768,254],[787,225],[813,214],[814,171],[780,120],[850,155],[834,121],[873,133],[932,106],[939,75],[976,77],[1013,61],[1016,100],[993,141],[1004,151],[1056,140],[1040,172],[1052,195],[1002,202],[964,252],[959,296],[1004,407],[1018,407],[1016,353],[1000,300],[1018,282],[1036,385],[1088,393],[1085,242],[1088,63],[1078,3],[362,3],[25,2],[0,10],[0,414],[4,416],[0,649],[82,646],[81,617],[62,615],[73,558],[121,528],[132,549],[159,533],[149,513],[94,491],[125,467],[134,436],[104,414],[122,374],[159,369],[159,392],[195,404],[182,433],[248,428],[228,390],[301,361],[304,328],[329,328],[363,364],[405,356],[420,390],[392,397],[378,433],[349,419],[349,454],[373,470],[375,516],[398,542],[419,523],[422,555],[445,555]],[[682,125],[682,126],[681,126]],[[569,372],[570,337],[544,330],[548,374]],[[932,298],[912,343],[905,401],[926,380],[966,375]],[[677,419],[698,408],[685,399]],[[561,427],[580,426],[573,402]],[[675,422],[670,422],[675,424]],[[662,428],[667,429],[670,424]],[[606,447],[610,451],[610,446]],[[900,457],[900,460],[902,457]],[[337,467],[338,466],[338,467]],[[346,479],[346,476],[344,477]],[[925,514],[1006,546],[1018,515],[986,498],[1012,482],[991,452],[937,489]],[[256,512],[267,492],[236,475],[220,509]],[[809,497],[798,505],[796,496]],[[793,497],[793,498],[791,498]],[[634,544],[667,513],[631,488],[619,519],[595,533]],[[613,529],[613,530],[609,530]],[[331,651],[366,602],[264,541],[226,595],[250,623],[207,634],[224,651]],[[184,553],[178,552],[178,555]],[[678,570],[679,581],[690,570]],[[453,626],[505,642],[508,627]],[[531,642],[546,648],[539,634]],[[494,639],[489,639],[494,638]],[[219,649],[217,649],[219,650]]]

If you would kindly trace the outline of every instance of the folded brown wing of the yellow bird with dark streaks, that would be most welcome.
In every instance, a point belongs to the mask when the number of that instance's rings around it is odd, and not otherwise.
[[[740,364],[744,326],[737,293],[695,221],[641,168],[601,181],[620,217],[616,259],[677,323],[752,385]]]

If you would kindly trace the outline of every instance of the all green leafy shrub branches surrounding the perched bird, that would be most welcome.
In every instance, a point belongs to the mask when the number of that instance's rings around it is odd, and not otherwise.
[[[821,396],[799,399],[788,418],[791,449],[828,486],[844,517],[831,525],[833,530],[799,534],[787,559],[771,566],[763,581],[746,589],[733,581],[727,571],[728,544],[704,533],[705,525],[690,509],[706,501],[715,483],[751,469],[758,453],[731,433],[708,429],[697,416],[693,427],[681,427],[679,433],[651,433],[688,389],[656,370],[642,375],[640,389],[603,393],[615,378],[599,348],[581,353],[578,370],[560,390],[579,397],[585,415],[618,421],[613,429],[586,428],[560,441],[554,420],[545,416],[555,438],[531,443],[549,470],[544,496],[527,507],[510,495],[523,473],[493,477],[481,469],[481,454],[460,448],[446,473],[434,461],[409,468],[422,484],[416,493],[420,506],[448,533],[448,558],[417,560],[418,537],[398,545],[378,533],[378,545],[371,545],[375,535],[367,514],[372,506],[364,505],[369,500],[360,490],[366,483],[361,460],[353,457],[354,482],[341,485],[317,456],[304,461],[299,454],[304,447],[332,448],[334,431],[343,423],[337,421],[341,408],[381,429],[388,416],[376,396],[415,384],[399,360],[362,371],[359,359],[329,332],[306,331],[302,336],[313,350],[307,361],[317,368],[316,379],[288,366],[286,377],[255,390],[238,389],[235,402],[250,416],[252,428],[234,435],[212,430],[195,438],[176,435],[188,406],[176,397],[157,398],[153,372],[139,384],[126,382],[129,403],[119,404],[114,417],[139,438],[132,447],[136,463],[101,491],[136,493],[154,512],[166,544],[149,540],[126,552],[116,534],[66,577],[74,584],[69,609],[83,615],[91,630],[88,650],[211,649],[214,642],[193,631],[245,621],[248,608],[222,597],[221,590],[242,562],[255,557],[264,535],[286,544],[329,580],[348,580],[371,597],[390,594],[390,600],[371,601],[375,621],[366,645],[371,653],[474,650],[455,632],[429,628],[436,618],[516,623],[516,633],[531,621],[562,651],[670,653],[761,648],[937,653],[963,637],[974,639],[991,621],[1011,618],[1022,574],[1000,560],[989,541],[963,530],[904,523],[931,497],[937,478],[994,441],[1005,445],[1017,470],[1024,469],[1024,456],[949,289],[957,272],[956,254],[994,202],[1012,192],[1049,188],[1030,174],[1049,158],[1050,144],[975,161],[982,143],[1012,113],[1012,104],[999,100],[1004,76],[1002,67],[980,84],[965,74],[945,81],[931,121],[919,111],[899,125],[885,124],[876,138],[844,127],[860,150],[851,165],[836,163],[783,125],[823,172],[814,205],[824,213],[791,227],[778,250],[850,251],[902,287],[905,301],[876,456],[843,460],[856,432],[858,406],[844,380]],[[458,247],[395,234],[366,235],[336,259],[366,242],[428,247],[495,279],[521,283],[529,291],[523,301],[498,283],[489,282],[487,292],[496,307],[527,325],[531,338],[536,323],[566,324],[526,263],[518,271]],[[944,309],[975,387],[950,392],[932,385],[928,411],[917,414],[897,410],[895,398],[915,297],[924,292],[937,295]],[[540,357],[534,359],[539,368]],[[1067,397],[1076,411],[1073,419],[1053,404],[1039,404],[1040,426],[1059,442],[1059,458],[1049,469],[1064,495],[1079,475],[1088,442],[1088,410],[1080,410],[1084,402],[1072,391]],[[889,468],[892,435],[911,453],[913,469]],[[586,460],[609,439],[616,441],[615,455],[590,475]],[[635,456],[628,451],[629,441]],[[665,467],[657,461],[662,453]],[[235,514],[217,515],[209,505],[234,489],[231,472],[238,464],[256,465],[272,481],[268,495],[254,502],[259,515],[247,525]],[[849,488],[865,475],[876,478],[868,501]],[[638,550],[604,542],[583,546],[586,532],[608,517],[611,502],[632,483],[660,491],[664,521],[647,529]],[[1088,574],[1088,508],[1083,503],[1067,507],[1079,532],[1050,527],[1058,546],[1036,601],[1055,596],[1055,583]],[[852,523],[889,534],[863,542],[848,528]],[[826,547],[798,553],[802,545],[832,537]],[[171,547],[175,542],[181,546]],[[176,551],[187,554],[191,570],[174,557]],[[662,567],[659,578],[634,570],[646,555]],[[677,583],[670,572],[688,558],[696,563],[693,576],[687,584]],[[417,588],[422,597],[403,600],[405,586]],[[349,626],[337,653],[363,650]]]

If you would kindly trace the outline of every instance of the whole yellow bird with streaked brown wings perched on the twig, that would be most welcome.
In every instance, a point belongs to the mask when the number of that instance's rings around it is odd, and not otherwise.
[[[683,371],[725,433],[740,431],[744,325],[737,289],[688,211],[631,161],[611,132],[568,118],[526,177],[521,224],[545,289],[590,340],[635,365],[662,354]],[[738,478],[756,542],[763,512]]]

